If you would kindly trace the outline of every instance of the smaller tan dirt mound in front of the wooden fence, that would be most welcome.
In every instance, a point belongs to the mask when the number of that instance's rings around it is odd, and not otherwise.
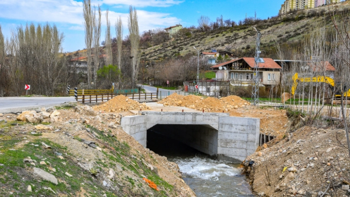
[[[146,104],[140,104],[139,102],[134,101],[124,95],[118,95],[102,105],[94,106],[93,109],[96,111],[103,112],[125,112],[129,110],[140,109],[150,110],[150,108],[147,107]]]

